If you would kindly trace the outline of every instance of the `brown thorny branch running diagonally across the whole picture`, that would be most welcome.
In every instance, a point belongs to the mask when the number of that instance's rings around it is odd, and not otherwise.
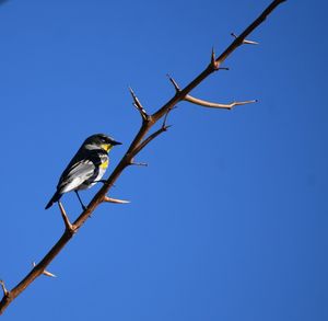
[[[253,41],[246,39],[246,37],[257,28],[266,19],[267,16],[281,3],[285,2],[286,0],[274,0],[272,1],[267,9],[248,26],[244,30],[244,32],[236,36],[234,36],[234,41],[232,44],[219,56],[215,58],[214,50],[212,50],[211,61],[209,66],[199,73],[190,83],[188,83],[184,89],[179,89],[176,82],[171,78],[171,82],[174,84],[176,92],[175,95],[167,101],[162,107],[160,107],[154,114],[149,115],[143,106],[141,105],[140,101],[136,96],[134,92],[130,89],[130,93],[133,99],[133,105],[139,111],[142,124],[141,127],[133,138],[130,147],[128,148],[126,154],[122,157],[118,165],[114,169],[113,173],[108,177],[108,180],[104,183],[102,188],[96,193],[93,197],[91,203],[89,204],[87,208],[81,213],[81,215],[75,219],[73,223],[71,223],[66,215],[66,211],[62,205],[59,203],[59,208],[61,211],[61,216],[65,222],[65,231],[58,242],[50,249],[50,251],[44,256],[44,259],[38,263],[34,264],[32,271],[11,290],[8,290],[4,286],[4,282],[0,280],[0,285],[3,290],[3,297],[0,301],[0,314],[7,309],[7,307],[22,293],[24,289],[30,286],[35,278],[40,275],[47,275],[46,267],[51,263],[51,261],[58,255],[58,253],[66,247],[66,244],[70,241],[70,239],[78,232],[81,226],[87,220],[91,214],[95,210],[95,208],[103,202],[112,202],[112,203],[126,203],[126,200],[115,199],[106,196],[110,187],[114,185],[116,180],[120,176],[121,172],[131,164],[139,164],[134,163],[133,158],[145,147],[150,141],[156,138],[159,135],[167,130],[168,126],[166,125],[166,117],[169,111],[181,101],[188,101],[196,103],[201,106],[207,107],[225,107],[231,108],[235,105],[241,104],[248,104],[255,101],[245,101],[245,102],[235,102],[229,105],[216,104],[207,102],[203,100],[198,100],[189,95],[190,91],[192,91],[199,83],[201,83],[212,72],[218,71],[222,68],[221,65],[225,61],[225,59],[241,45],[244,44],[257,44]],[[155,130],[153,134],[148,135],[149,130],[155,125],[159,119],[162,117],[165,118],[163,125],[160,129]]]

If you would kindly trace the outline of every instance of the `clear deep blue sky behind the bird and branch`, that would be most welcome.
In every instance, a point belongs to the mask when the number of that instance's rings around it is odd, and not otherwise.
[[[0,278],[14,286],[62,232],[44,207],[80,144],[139,128],[270,0],[19,1],[0,7]],[[328,320],[327,1],[288,1],[181,103],[3,320]],[[90,200],[97,191],[82,193]],[[63,203],[74,219],[74,195]],[[45,317],[46,316],[46,317]]]

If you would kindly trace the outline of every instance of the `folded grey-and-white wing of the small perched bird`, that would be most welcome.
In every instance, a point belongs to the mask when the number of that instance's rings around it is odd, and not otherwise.
[[[96,167],[92,160],[84,159],[71,167],[68,167],[62,173],[57,190],[62,194],[75,190],[83,182],[94,175]]]

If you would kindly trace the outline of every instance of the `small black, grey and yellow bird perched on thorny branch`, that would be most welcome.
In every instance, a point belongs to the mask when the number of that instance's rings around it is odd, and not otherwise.
[[[85,209],[78,191],[90,188],[97,182],[103,182],[102,177],[109,163],[108,152],[115,145],[121,145],[121,142],[115,141],[104,134],[95,134],[86,138],[62,172],[57,191],[46,209],[58,202],[62,194],[71,191],[77,193],[82,208]]]

